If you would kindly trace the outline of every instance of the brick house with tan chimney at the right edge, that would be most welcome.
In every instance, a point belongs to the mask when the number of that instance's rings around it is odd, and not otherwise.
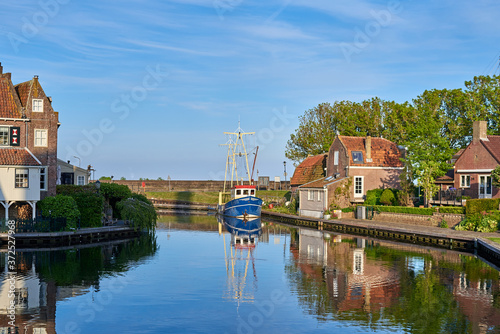
[[[491,171],[500,165],[500,136],[487,135],[486,121],[473,123],[472,142],[455,162],[454,186],[470,198],[500,198]]]

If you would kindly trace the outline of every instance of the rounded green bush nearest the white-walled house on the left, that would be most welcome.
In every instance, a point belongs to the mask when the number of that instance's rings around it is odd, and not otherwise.
[[[45,197],[38,202],[38,209],[42,213],[42,217],[45,218],[66,218],[66,228],[75,228],[80,218],[78,206],[71,196],[56,195]]]

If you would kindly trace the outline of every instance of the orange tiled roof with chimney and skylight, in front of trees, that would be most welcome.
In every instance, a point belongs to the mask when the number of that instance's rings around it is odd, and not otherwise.
[[[395,143],[390,140],[372,137],[371,138],[371,159],[366,158],[366,137],[337,136],[346,148],[350,166],[366,167],[403,167],[401,151]],[[363,153],[363,163],[354,162],[352,152]]]

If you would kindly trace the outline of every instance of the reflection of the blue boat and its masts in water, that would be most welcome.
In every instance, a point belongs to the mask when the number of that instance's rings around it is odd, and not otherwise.
[[[224,240],[224,259],[227,273],[227,289],[224,298],[242,302],[253,302],[257,290],[255,269],[255,246],[262,235],[260,217],[238,219],[218,215],[219,234]],[[229,232],[229,242],[227,233]],[[249,273],[250,272],[250,273]]]

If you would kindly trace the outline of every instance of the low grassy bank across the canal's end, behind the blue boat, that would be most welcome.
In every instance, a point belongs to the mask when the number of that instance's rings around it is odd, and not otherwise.
[[[147,192],[148,198],[170,199],[185,202],[217,204],[219,201],[219,193],[213,191],[195,192],[195,191],[163,191],[163,192]],[[289,191],[286,190],[262,190],[257,191],[257,197],[262,198],[265,202],[278,201],[284,197],[287,200],[290,198]]]

